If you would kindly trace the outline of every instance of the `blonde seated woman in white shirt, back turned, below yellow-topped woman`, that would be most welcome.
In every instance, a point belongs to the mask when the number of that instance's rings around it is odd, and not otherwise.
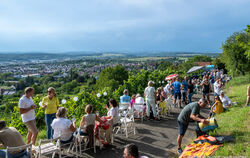
[[[67,110],[60,107],[56,113],[56,119],[53,120],[51,127],[54,129],[53,138],[60,138],[61,143],[66,144],[73,140],[73,132],[76,131],[76,121],[73,123],[66,118]]]

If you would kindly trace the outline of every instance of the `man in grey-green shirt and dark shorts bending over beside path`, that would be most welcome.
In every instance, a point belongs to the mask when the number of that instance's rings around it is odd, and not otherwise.
[[[206,99],[200,99],[199,102],[193,102],[184,107],[178,116],[177,123],[179,128],[179,135],[177,137],[178,154],[182,153],[181,142],[188,128],[189,122],[194,120],[197,122],[208,123],[206,119],[202,119],[200,116],[200,108],[204,108],[207,105]]]

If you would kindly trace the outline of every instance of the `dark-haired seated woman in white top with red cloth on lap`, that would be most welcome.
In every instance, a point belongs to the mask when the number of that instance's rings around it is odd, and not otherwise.
[[[107,141],[106,143],[104,143],[105,145],[108,145],[111,143],[111,133],[112,133],[113,126],[116,126],[120,120],[119,109],[117,107],[118,105],[117,105],[116,100],[111,98],[109,100],[109,105],[111,106],[110,109],[107,104],[105,105],[105,108],[108,111],[107,116],[105,116],[105,119],[109,120],[110,126],[107,130],[100,131],[102,138],[104,138],[104,133],[105,133],[105,137]]]

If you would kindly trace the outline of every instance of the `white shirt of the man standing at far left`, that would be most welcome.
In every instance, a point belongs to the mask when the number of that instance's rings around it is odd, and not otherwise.
[[[19,108],[30,108],[32,105],[34,105],[34,102],[32,100],[32,97],[27,98],[25,95],[23,95],[20,99],[19,99]],[[30,111],[21,114],[22,117],[22,121],[23,122],[28,122],[31,120],[35,120],[35,110],[31,109]]]

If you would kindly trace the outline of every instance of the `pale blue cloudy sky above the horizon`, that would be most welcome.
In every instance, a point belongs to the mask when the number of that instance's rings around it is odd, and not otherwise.
[[[250,0],[0,0],[0,52],[221,52]]]

